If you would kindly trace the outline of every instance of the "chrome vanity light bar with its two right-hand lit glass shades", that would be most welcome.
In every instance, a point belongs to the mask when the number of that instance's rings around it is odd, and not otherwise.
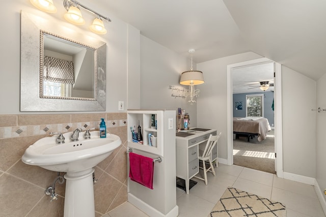
[[[77,25],[83,25],[85,23],[85,20],[83,19],[82,13],[80,12],[80,8],[83,8],[97,16],[97,18],[95,18],[93,20],[93,24],[90,26],[90,30],[97,34],[101,34],[101,35],[106,34],[103,20],[106,20],[107,22],[111,22],[110,18],[105,17],[105,16],[93,11],[92,9],[80,4],[79,2],[77,2],[75,0],[64,0],[63,5],[64,5],[65,9],[68,11],[65,14],[65,18],[69,22],[71,22],[73,24],[77,24]],[[79,19],[83,20],[83,21],[76,21]]]

